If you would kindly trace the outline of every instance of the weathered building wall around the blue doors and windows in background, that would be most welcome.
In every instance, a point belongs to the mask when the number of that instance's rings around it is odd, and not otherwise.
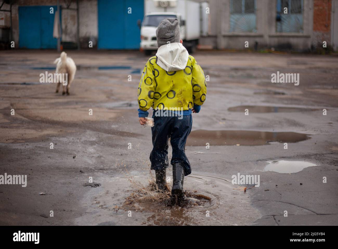
[[[197,0],[204,2],[205,0]],[[331,43],[331,0],[303,0],[303,33],[276,32],[277,0],[256,0],[256,32],[240,33],[230,31],[231,0],[209,0],[209,35],[201,37],[200,44],[218,49],[275,48],[308,51],[327,41]],[[17,0],[12,6],[13,40],[19,42],[18,7],[25,5],[56,5],[56,0]],[[76,42],[76,11],[66,11],[66,4],[60,1],[65,13],[62,15],[64,41]],[[76,8],[76,1],[70,5]],[[2,9],[9,10],[4,4]],[[9,12],[0,12],[0,28],[10,27]],[[98,39],[97,0],[79,0],[79,40],[81,47],[88,47],[89,41],[96,46]]]

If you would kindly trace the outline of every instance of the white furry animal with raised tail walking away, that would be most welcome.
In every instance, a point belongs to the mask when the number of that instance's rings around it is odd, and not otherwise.
[[[68,83],[67,83],[67,95],[69,95],[69,88],[72,84],[75,72],[76,72],[76,65],[72,58],[67,57],[67,54],[65,52],[62,52],[60,57],[57,58],[54,61],[54,64],[56,64],[56,74],[67,74]],[[59,91],[61,82],[57,82],[56,85],[56,92]],[[66,94],[66,86],[62,84],[62,95]]]

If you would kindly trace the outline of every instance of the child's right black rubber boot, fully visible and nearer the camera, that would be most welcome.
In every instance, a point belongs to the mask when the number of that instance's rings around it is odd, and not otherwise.
[[[186,198],[183,192],[184,183],[184,166],[180,163],[172,165],[172,189],[171,189],[171,204],[181,206],[184,204]]]

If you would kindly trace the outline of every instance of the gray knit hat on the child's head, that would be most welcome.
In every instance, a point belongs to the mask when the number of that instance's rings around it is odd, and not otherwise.
[[[170,41],[170,43],[179,42],[180,37],[177,18],[162,20],[156,29],[156,37],[158,47],[167,44],[168,41]]]

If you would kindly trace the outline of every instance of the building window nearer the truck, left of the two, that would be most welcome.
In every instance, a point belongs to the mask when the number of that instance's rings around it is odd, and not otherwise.
[[[230,1],[230,32],[257,32],[256,0]]]

